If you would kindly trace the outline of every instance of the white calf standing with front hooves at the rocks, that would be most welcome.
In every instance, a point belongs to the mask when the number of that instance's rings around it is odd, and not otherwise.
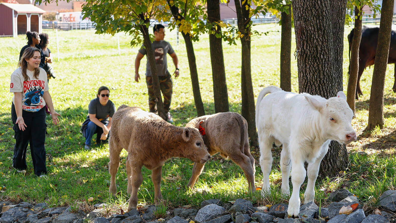
[[[271,93],[271,94],[269,94]],[[269,94],[265,96],[266,94]],[[265,97],[264,97],[265,96]],[[305,180],[304,161],[308,162],[308,184],[304,204],[314,200],[314,185],[320,162],[331,140],[348,144],[356,140],[352,129],[353,112],[345,94],[326,100],[310,94],[296,94],[269,86],[261,90],[256,104],[256,126],[259,135],[260,165],[263,171],[263,196],[270,193],[269,174],[272,166],[272,143],[283,144],[280,154],[282,194],[289,194],[289,174],[293,192],[287,209],[288,217],[300,212],[300,186]]]

